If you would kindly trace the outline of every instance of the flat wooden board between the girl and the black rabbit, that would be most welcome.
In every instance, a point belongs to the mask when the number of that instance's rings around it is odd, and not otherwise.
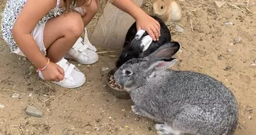
[[[144,1],[133,0],[140,7]],[[96,48],[123,48],[126,32],[134,22],[132,16],[108,3],[91,34],[91,44]]]

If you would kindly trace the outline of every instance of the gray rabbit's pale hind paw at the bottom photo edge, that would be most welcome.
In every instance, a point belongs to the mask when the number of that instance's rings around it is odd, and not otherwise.
[[[180,135],[179,131],[173,130],[171,126],[165,124],[155,124],[155,130],[158,135]]]

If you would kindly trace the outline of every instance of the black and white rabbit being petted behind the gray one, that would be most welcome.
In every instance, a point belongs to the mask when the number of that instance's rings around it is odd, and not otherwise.
[[[151,16],[160,23],[160,34],[158,41],[152,41],[151,37],[144,30],[138,30],[136,22],[130,27],[123,44],[123,51],[119,55],[116,67],[119,68],[126,61],[133,58],[144,58],[155,52],[162,44],[171,41],[171,34],[165,23],[156,16]]]

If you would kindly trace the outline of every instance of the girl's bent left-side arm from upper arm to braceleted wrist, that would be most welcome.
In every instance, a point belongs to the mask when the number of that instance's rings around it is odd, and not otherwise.
[[[56,0],[27,0],[16,23],[12,27],[12,36],[16,44],[18,44],[27,59],[38,69],[43,68],[47,64],[48,59],[40,52],[34,37],[31,35],[31,31],[34,30],[39,20],[53,9],[55,5]]]

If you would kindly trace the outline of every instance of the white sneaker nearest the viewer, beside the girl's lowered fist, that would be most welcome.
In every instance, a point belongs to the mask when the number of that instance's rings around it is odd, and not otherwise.
[[[84,73],[81,73],[79,69],[77,69],[73,64],[70,64],[66,59],[61,59],[56,64],[64,69],[65,76],[64,80],[52,83],[56,83],[59,86],[66,88],[80,87],[85,83],[86,77],[84,76]],[[44,79],[41,72],[39,72],[38,75],[41,79]]]

